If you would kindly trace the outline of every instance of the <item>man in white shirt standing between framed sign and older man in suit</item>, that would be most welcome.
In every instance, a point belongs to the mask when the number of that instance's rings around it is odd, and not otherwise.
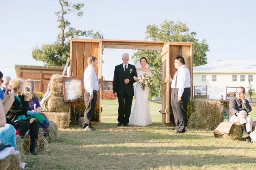
[[[96,130],[91,125],[91,119],[93,118],[94,109],[97,102],[97,92],[99,90],[99,82],[96,71],[94,68],[97,66],[96,57],[88,57],[88,67],[84,71],[84,130]]]

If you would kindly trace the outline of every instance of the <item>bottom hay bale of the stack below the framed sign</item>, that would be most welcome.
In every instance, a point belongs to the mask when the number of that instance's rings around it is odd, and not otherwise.
[[[44,112],[49,120],[55,122],[59,128],[68,128],[70,122],[70,116],[68,112]]]

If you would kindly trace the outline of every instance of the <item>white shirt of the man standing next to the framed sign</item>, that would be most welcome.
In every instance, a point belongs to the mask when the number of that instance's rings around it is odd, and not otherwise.
[[[93,94],[93,90],[99,90],[97,74],[92,65],[88,65],[84,71],[84,89],[90,94]]]

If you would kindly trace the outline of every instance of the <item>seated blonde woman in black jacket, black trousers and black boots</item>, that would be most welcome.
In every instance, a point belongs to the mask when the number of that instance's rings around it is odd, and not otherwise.
[[[12,79],[9,83],[12,85],[12,92],[15,94],[15,101],[11,109],[6,113],[6,122],[13,125],[19,131],[23,138],[28,129],[30,129],[30,152],[37,155],[36,146],[38,140],[38,120],[27,116],[29,110],[30,92],[22,94],[24,82],[20,78]]]

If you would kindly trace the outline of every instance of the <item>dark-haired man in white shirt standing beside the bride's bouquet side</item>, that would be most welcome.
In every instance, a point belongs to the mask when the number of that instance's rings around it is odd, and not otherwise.
[[[185,66],[185,60],[179,56],[175,58],[174,62],[177,71],[174,74],[172,81],[171,103],[174,115],[176,133],[184,133],[187,124],[187,105],[190,96],[190,73]]]

